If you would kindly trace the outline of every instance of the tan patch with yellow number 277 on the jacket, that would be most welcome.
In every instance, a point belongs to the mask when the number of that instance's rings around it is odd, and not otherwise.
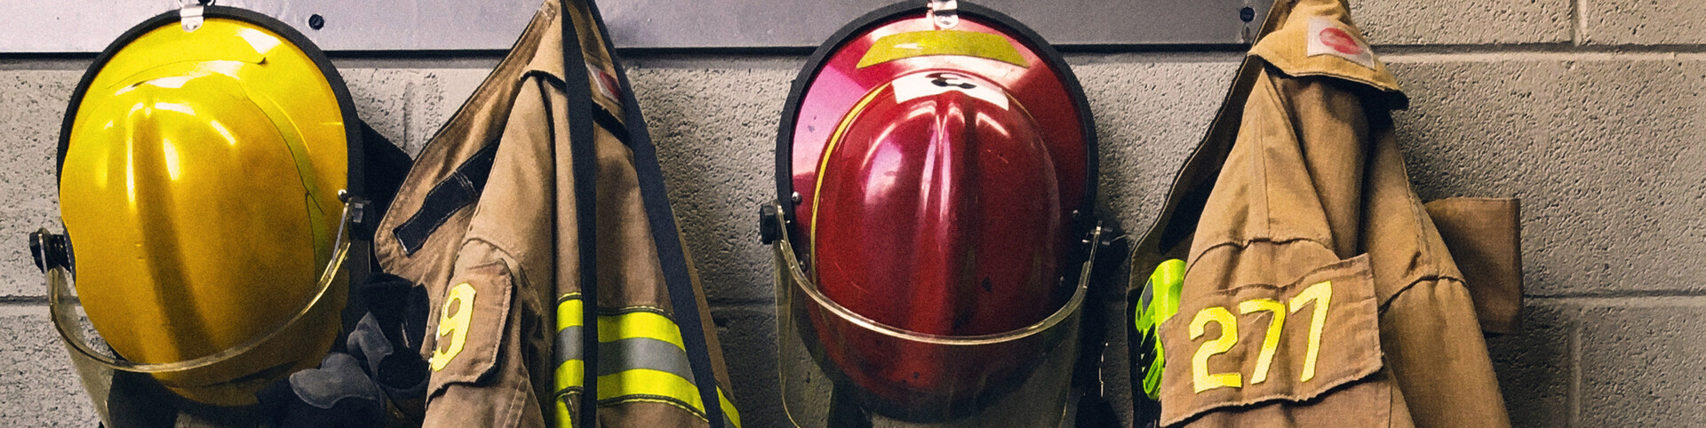
[[[1162,402],[1181,394],[1204,406],[1302,401],[1378,372],[1377,312],[1365,257],[1291,285],[1186,292],[1179,315],[1162,326]]]

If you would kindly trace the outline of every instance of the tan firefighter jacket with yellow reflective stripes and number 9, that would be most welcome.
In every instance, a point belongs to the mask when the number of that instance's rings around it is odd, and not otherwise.
[[[425,426],[739,426],[660,174],[595,5],[548,0],[374,237],[430,297]]]

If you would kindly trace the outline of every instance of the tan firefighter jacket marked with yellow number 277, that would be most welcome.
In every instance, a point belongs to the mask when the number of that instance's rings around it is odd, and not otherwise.
[[[1483,327],[1515,326],[1517,206],[1425,206],[1392,133],[1406,104],[1341,0],[1274,3],[1134,249],[1133,275],[1187,264],[1163,426],[1508,426]]]

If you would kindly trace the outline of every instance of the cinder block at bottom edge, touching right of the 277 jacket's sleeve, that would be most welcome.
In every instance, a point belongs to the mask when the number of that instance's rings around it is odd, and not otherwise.
[[[1530,300],[1522,331],[1488,338],[1505,409],[1515,426],[1568,426],[1575,331],[1581,309],[1559,300]]]

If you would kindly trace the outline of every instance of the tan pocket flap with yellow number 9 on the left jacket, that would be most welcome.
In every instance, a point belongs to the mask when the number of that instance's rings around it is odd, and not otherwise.
[[[503,263],[490,263],[462,271],[450,280],[444,295],[432,300],[437,321],[432,336],[432,379],[428,399],[454,384],[479,384],[490,379],[507,336],[514,285]]]

